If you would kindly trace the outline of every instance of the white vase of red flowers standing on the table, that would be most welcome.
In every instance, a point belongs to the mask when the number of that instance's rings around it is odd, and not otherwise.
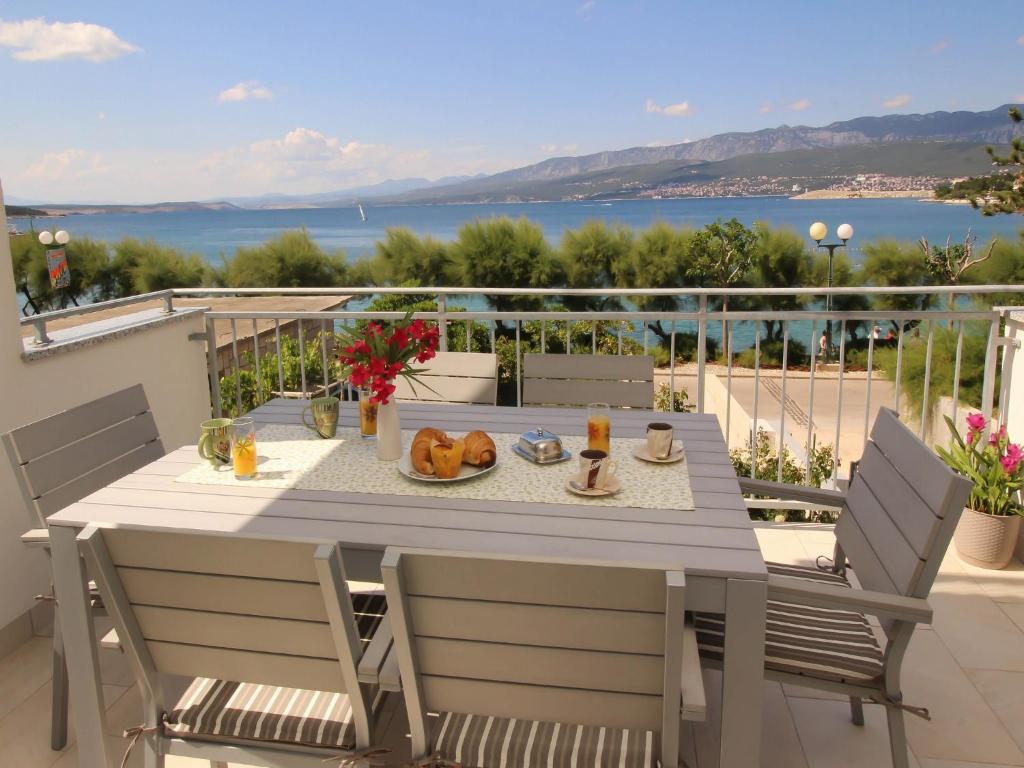
[[[417,374],[425,369],[414,368],[413,361],[423,364],[437,354],[437,326],[427,326],[412,315],[409,312],[395,323],[368,323],[360,330],[341,330],[341,377],[377,406],[377,458],[382,461],[401,457],[401,425],[392,396],[395,379],[404,376],[418,381]]]

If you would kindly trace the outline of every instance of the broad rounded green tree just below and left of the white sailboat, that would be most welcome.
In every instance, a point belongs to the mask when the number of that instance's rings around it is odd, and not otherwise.
[[[325,253],[308,231],[293,229],[239,248],[221,280],[231,288],[325,288],[345,285],[346,272],[342,252]]]

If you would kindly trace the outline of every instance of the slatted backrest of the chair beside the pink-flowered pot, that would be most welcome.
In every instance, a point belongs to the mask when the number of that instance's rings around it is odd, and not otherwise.
[[[836,524],[861,586],[927,597],[970,494],[970,480],[882,409]]]

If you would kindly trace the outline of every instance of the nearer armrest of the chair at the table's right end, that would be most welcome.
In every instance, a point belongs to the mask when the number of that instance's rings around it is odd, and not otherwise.
[[[837,610],[856,610],[873,616],[918,624],[932,623],[932,606],[920,597],[857,590],[804,579],[768,575],[768,599]]]

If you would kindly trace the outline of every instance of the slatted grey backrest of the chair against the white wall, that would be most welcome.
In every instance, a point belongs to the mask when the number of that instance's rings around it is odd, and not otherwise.
[[[141,384],[7,432],[3,444],[37,525],[164,455]]]

